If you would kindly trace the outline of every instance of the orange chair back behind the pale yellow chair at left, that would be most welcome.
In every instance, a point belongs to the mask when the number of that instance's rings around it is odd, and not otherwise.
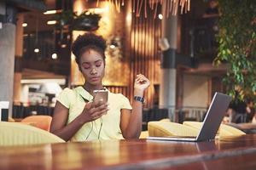
[[[27,116],[21,122],[33,123],[35,127],[44,129],[49,132],[52,117],[45,115]]]

